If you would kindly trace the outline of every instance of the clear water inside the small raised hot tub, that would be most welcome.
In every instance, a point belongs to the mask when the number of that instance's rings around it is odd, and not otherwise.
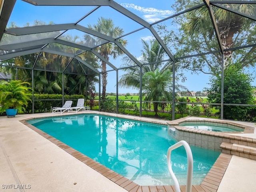
[[[180,126],[185,126],[188,128],[202,129],[206,131],[216,131],[216,132],[241,132],[238,128],[230,128],[228,125],[210,125],[210,124],[197,124],[196,122],[184,122],[180,123]]]

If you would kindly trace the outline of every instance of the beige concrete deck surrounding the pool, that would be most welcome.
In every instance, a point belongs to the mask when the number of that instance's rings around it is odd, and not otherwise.
[[[126,192],[127,190],[118,184],[20,122],[28,118],[59,115],[42,113],[17,115],[13,118],[0,116],[0,191]],[[166,122],[152,118],[132,118]],[[255,127],[254,123],[237,123]],[[242,136],[256,138],[255,131],[254,134]],[[255,191],[255,178],[256,161],[233,155],[217,191]],[[23,190],[18,189],[19,186],[22,186]]]

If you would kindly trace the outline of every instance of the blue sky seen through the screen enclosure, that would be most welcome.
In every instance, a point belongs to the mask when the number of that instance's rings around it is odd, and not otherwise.
[[[171,7],[173,3],[172,0],[116,0],[116,2],[150,24],[174,14]],[[30,26],[33,26],[35,20],[43,21],[46,24],[50,22],[54,22],[55,24],[74,23],[93,8],[94,7],[92,6],[33,6],[21,0],[17,0],[8,24],[10,24],[10,22],[15,22],[17,26],[22,27],[26,23],[29,23]],[[100,7],[78,24],[87,27],[88,24],[96,24],[100,17],[111,18],[115,26],[119,26],[124,30],[124,34],[142,27],[140,24],[126,18],[126,16],[120,14],[116,10],[105,6]],[[77,30],[69,30],[68,34],[72,36],[83,36],[84,33]],[[147,29],[130,34],[125,37],[128,42],[126,49],[136,58],[140,58],[141,50],[143,49],[141,40],[150,40],[152,38],[153,35]],[[120,56],[116,59],[110,57],[110,62],[119,68],[122,66],[122,57]],[[107,67],[107,70],[111,69],[112,68]],[[187,78],[186,82],[179,82],[179,84],[182,84],[190,91],[202,91],[205,87],[209,87],[209,75],[203,73],[193,75],[190,72],[184,73]],[[118,78],[120,78],[122,74],[123,71],[119,70]],[[107,81],[108,85],[106,92],[116,93],[116,72],[108,72]],[[96,88],[98,90],[98,85],[96,85]],[[138,93],[138,90],[119,87],[118,92]]]

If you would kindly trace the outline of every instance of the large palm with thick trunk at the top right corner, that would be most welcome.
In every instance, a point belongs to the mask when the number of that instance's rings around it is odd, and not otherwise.
[[[190,7],[198,5],[198,2],[190,4]],[[222,4],[230,10],[240,12],[246,15],[253,15],[255,13],[255,7],[252,4]],[[239,33],[243,25],[248,27],[252,24],[252,20],[246,19],[243,16],[234,14],[224,9],[212,7],[216,24],[218,27],[220,39],[223,49],[232,48],[233,38],[236,33]],[[192,10],[187,14],[187,22],[184,26],[184,30],[193,35],[197,32],[205,32],[208,37],[212,39],[214,37],[214,28],[210,20],[209,12],[206,6],[202,6],[196,10]],[[232,61],[232,51],[224,52],[224,68],[228,65],[228,60]]]

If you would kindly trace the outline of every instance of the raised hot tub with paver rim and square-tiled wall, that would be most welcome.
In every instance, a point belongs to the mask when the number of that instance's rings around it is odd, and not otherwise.
[[[230,137],[227,133],[254,132],[254,127],[251,126],[225,120],[209,120],[206,118],[186,117],[170,121],[167,124],[169,134],[172,134],[177,141],[185,140],[192,146],[200,146],[218,151],[222,151],[222,148],[220,148],[222,140]],[[200,129],[199,127],[201,125],[202,127]]]

